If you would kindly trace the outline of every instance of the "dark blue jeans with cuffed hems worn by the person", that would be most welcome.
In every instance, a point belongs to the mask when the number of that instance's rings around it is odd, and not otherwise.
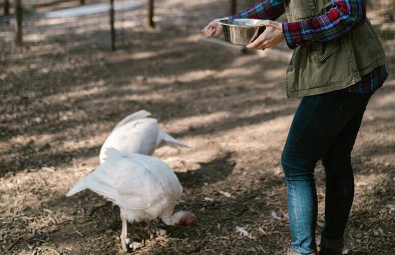
[[[291,247],[296,252],[309,254],[317,249],[314,167],[320,159],[326,174],[321,245],[343,246],[354,197],[350,155],[370,97],[371,94],[338,90],[301,100],[281,157],[287,184]]]

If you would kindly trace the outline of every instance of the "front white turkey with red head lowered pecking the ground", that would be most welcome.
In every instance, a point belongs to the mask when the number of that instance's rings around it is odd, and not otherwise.
[[[163,233],[152,225],[156,218],[175,226],[195,222],[196,217],[191,212],[173,213],[181,197],[182,186],[163,161],[140,154],[122,154],[114,148],[108,148],[105,153],[106,162],[78,181],[66,196],[90,189],[119,206],[123,250],[127,251],[132,246],[127,238],[128,221],[147,222],[151,238],[155,233]]]

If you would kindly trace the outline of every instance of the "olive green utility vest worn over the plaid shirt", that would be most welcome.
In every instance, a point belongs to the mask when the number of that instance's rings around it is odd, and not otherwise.
[[[324,14],[330,0],[284,0],[288,22]],[[369,19],[330,42],[298,46],[286,73],[287,97],[317,95],[347,88],[385,64],[383,46]]]

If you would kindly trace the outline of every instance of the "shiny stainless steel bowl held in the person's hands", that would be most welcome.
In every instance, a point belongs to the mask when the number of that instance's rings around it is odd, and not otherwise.
[[[259,25],[261,19],[241,18],[223,19],[218,21],[222,25],[225,41],[233,44],[247,45],[253,42],[266,27]]]

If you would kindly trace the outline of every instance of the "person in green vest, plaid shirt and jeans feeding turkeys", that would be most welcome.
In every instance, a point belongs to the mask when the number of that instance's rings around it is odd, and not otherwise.
[[[287,22],[274,21],[286,12]],[[354,197],[351,151],[372,94],[388,74],[385,54],[362,0],[265,0],[227,17],[258,18],[266,30],[247,48],[294,49],[287,97],[301,97],[281,156],[291,243],[286,254],[341,254]],[[218,37],[218,19],[203,30]],[[325,224],[315,244],[318,202],[314,167],[325,167]]]

